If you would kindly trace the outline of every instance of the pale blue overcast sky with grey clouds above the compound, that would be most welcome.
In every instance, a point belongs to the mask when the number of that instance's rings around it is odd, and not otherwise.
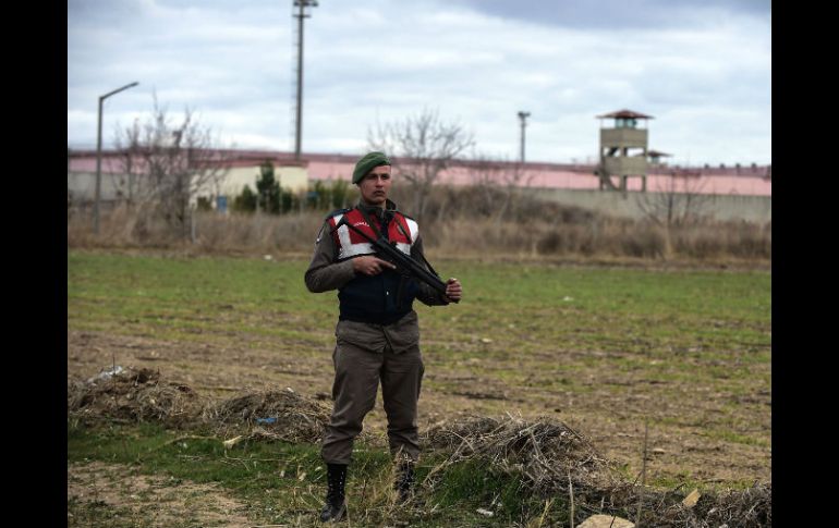
[[[293,0],[68,0],[68,146],[184,108],[223,146],[294,148]],[[771,162],[769,0],[319,0],[305,22],[303,151],[437,110],[485,156],[594,160],[596,115],[653,115],[673,163]]]

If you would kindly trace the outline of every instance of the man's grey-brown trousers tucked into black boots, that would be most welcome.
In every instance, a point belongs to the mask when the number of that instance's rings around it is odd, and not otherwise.
[[[335,347],[335,407],[320,450],[329,464],[350,464],[353,441],[362,431],[364,417],[376,404],[379,381],[391,453],[401,451],[413,461],[420,457],[416,403],[425,371],[420,346],[414,343],[399,353],[393,352],[391,343],[378,352],[375,348],[378,347],[369,349],[340,337]]]

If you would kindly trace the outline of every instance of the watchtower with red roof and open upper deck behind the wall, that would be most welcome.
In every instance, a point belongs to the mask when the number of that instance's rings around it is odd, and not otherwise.
[[[627,191],[627,179],[641,176],[641,191],[647,189],[647,130],[643,126],[652,115],[619,110],[598,115],[600,120],[600,163],[595,174],[600,176],[600,189]],[[607,128],[604,119],[613,119]],[[639,126],[639,121],[642,126]],[[618,176],[618,185],[611,177]]]

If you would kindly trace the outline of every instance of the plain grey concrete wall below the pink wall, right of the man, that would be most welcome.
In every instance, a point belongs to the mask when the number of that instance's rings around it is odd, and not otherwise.
[[[612,217],[642,219],[646,210],[664,214],[668,198],[673,200],[674,210],[683,210],[689,195],[679,193],[620,193],[616,191],[526,188],[538,199],[568,204],[592,209]],[[716,220],[747,220],[750,222],[771,221],[771,196],[693,195],[689,207],[704,217]]]

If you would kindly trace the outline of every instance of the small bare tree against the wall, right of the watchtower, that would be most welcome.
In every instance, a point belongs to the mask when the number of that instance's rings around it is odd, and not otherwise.
[[[639,209],[664,228],[683,225],[703,217],[710,196],[702,194],[698,174],[673,171],[667,183],[636,196]]]

